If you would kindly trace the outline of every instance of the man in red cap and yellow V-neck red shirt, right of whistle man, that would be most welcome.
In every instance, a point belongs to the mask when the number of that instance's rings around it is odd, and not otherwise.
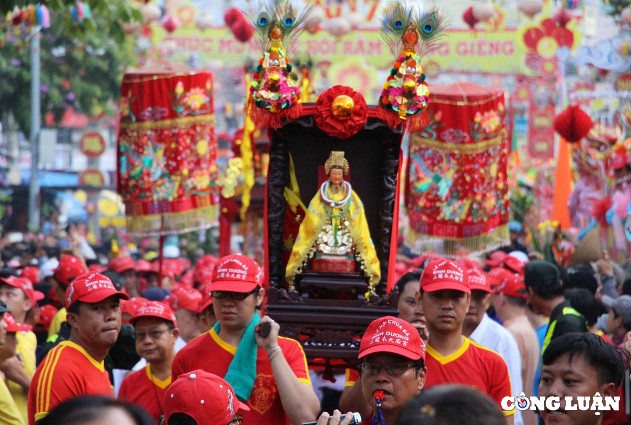
[[[508,368],[494,351],[462,335],[471,289],[467,271],[451,260],[435,260],[421,276],[417,295],[423,303],[429,330],[425,388],[440,384],[465,384],[488,394],[501,406],[512,396]],[[514,411],[506,412],[513,423]]]

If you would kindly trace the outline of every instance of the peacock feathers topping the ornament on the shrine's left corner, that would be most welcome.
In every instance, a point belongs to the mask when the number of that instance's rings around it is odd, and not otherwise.
[[[289,49],[304,29],[311,7],[297,11],[290,1],[268,0],[259,2],[254,10],[249,16],[255,39],[261,51],[267,51],[270,47]]]

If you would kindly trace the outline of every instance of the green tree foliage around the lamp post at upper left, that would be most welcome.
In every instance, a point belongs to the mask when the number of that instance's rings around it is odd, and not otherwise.
[[[96,115],[117,101],[122,72],[133,60],[129,42],[119,44],[107,33],[89,31],[78,37],[69,33],[64,12],[51,12],[51,27],[41,30],[41,113],[56,122],[73,106]],[[95,28],[108,24],[94,13]],[[30,34],[7,40],[0,49],[0,118],[11,113],[25,134],[30,132],[31,52]]]

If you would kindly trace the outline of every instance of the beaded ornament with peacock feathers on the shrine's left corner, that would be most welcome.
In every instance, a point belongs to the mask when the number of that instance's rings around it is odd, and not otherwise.
[[[256,122],[278,128],[283,120],[300,116],[300,82],[284,45],[291,45],[305,16],[297,16],[288,1],[269,2],[263,9],[253,27],[265,55],[252,76],[248,114]]]

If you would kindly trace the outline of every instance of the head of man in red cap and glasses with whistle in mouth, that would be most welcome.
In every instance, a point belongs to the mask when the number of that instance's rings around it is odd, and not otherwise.
[[[381,317],[366,329],[358,358],[362,393],[372,407],[370,423],[393,424],[425,384],[425,343],[405,320]]]

